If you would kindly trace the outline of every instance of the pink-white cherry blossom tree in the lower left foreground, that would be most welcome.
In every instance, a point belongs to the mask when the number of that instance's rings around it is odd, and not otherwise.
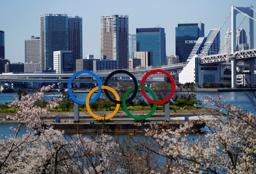
[[[53,86],[43,87],[33,96],[29,94],[10,104],[17,114],[7,116],[19,122],[11,137],[0,140],[1,173],[113,173],[118,172],[118,144],[109,135],[96,140],[82,135],[66,138],[63,131],[41,127],[42,118],[58,107],[62,95],[48,100],[45,108],[35,105],[43,94]],[[22,137],[18,133],[27,127]],[[39,134],[38,134],[39,133]]]

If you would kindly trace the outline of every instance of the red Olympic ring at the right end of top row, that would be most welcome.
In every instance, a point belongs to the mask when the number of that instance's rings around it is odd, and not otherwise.
[[[162,104],[162,103],[165,103],[167,101],[169,101],[171,99],[171,97],[173,97],[173,94],[175,92],[175,81],[173,79],[173,76],[171,76],[171,74],[169,74],[167,71],[164,71],[164,70],[151,70],[149,71],[147,74],[145,74],[145,76],[142,78],[141,80],[141,86],[144,86],[144,83],[145,83],[145,80],[147,80],[148,76],[150,76],[151,74],[153,73],[163,73],[165,74],[166,76],[168,76],[171,80],[171,85],[172,85],[172,88],[171,88],[171,93],[170,95],[165,98],[164,100],[161,100],[161,101],[155,101],[155,100],[152,100],[150,99],[147,94],[145,93],[145,90],[144,89],[141,89],[141,93],[142,93],[142,96],[145,97],[146,100],[148,100],[149,102],[151,103],[154,103],[154,104]]]

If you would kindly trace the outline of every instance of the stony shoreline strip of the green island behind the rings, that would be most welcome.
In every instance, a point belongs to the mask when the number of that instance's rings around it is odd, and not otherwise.
[[[96,115],[99,116],[108,116],[113,111],[96,111],[94,112]],[[130,111],[131,114],[136,116],[145,116],[150,111]],[[7,115],[15,115],[16,113],[0,113],[0,118],[6,118]],[[218,109],[212,108],[201,108],[197,110],[170,110],[170,120],[171,121],[181,121],[184,120],[185,116],[188,116],[189,120],[216,120],[216,119],[226,119],[226,118],[233,118],[233,116],[228,116],[222,113]],[[43,118],[43,122],[55,121],[55,117],[60,117],[61,122],[73,122],[74,121],[74,112],[51,112],[48,116]],[[165,112],[162,110],[156,110],[155,113],[147,118],[146,120],[164,120]],[[89,115],[88,112],[80,111],[79,112],[79,120],[81,121],[90,121],[96,120],[92,116]],[[134,120],[131,117],[128,117],[125,111],[118,111],[118,113],[111,118],[111,120]],[[0,123],[17,123],[16,121],[7,119],[6,121],[0,120]]]

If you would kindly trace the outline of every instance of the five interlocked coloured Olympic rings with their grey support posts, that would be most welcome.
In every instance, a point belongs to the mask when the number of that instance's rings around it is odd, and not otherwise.
[[[129,89],[126,91],[126,93],[124,94],[124,97],[123,97],[123,100],[122,100],[122,101],[120,101],[120,98],[119,98],[119,96],[118,96],[118,93],[117,93],[113,88],[111,88],[111,87],[108,86],[108,82],[109,82],[109,80],[111,79],[111,77],[114,76],[115,74],[119,74],[119,73],[127,74],[128,76],[130,76],[130,77],[132,78],[132,80],[133,80],[133,82],[134,82],[134,86],[131,87],[131,88],[129,88]],[[157,97],[155,96],[155,93],[154,93],[150,88],[144,86],[145,80],[148,78],[148,76],[150,76],[150,75],[153,74],[153,73],[163,73],[163,74],[165,74],[167,77],[169,77],[170,80],[171,80],[171,84],[172,84],[171,93],[170,93],[170,95],[169,95],[167,98],[165,98],[164,100],[157,101]],[[78,76],[79,74],[90,74],[90,75],[92,75],[92,76],[96,79],[96,81],[97,81],[97,83],[98,83],[98,86],[95,87],[95,88],[93,88],[93,89],[89,92],[89,94],[88,94],[88,96],[86,97],[86,100],[85,100],[85,101],[78,100],[78,99],[73,95],[72,90],[71,90],[72,82],[73,82],[73,80],[76,78],[76,76]],[[108,97],[108,99],[109,99],[110,101],[112,101],[112,102],[114,102],[114,103],[116,104],[116,108],[115,108],[114,112],[113,112],[112,114],[110,114],[109,116],[105,116],[105,117],[97,116],[95,113],[93,113],[93,111],[91,110],[91,107],[90,107],[90,104],[93,103],[94,101],[96,101],[96,100],[99,98],[99,96],[101,95],[102,89],[104,89],[104,92],[105,92],[105,94],[106,94],[106,97]],[[126,105],[127,103],[129,103],[130,101],[132,101],[132,100],[135,98],[135,96],[136,96],[137,93],[138,93],[138,89],[141,89],[141,93],[142,93],[143,97],[144,97],[146,100],[148,100],[148,101],[150,101],[151,103],[154,104],[153,107],[152,107],[152,110],[150,111],[150,113],[148,113],[147,115],[142,116],[142,117],[134,116],[133,114],[131,114],[131,113],[129,112],[128,108],[127,108],[127,105]],[[134,90],[134,93],[132,94],[132,96],[131,96],[130,98],[127,99],[127,96],[129,95],[129,93],[130,93],[132,90]],[[153,97],[153,100],[147,96],[147,94],[145,93],[145,90],[147,90],[147,91],[151,94],[151,96]],[[96,93],[96,96],[93,97],[93,98],[90,100],[92,94],[93,94],[95,91],[98,91],[98,92]],[[114,96],[115,96],[116,99],[114,99],[114,98],[111,97],[111,95],[109,94],[109,91],[111,91],[111,92],[114,94]],[[167,71],[164,71],[164,70],[151,70],[151,71],[149,71],[149,72],[148,72],[147,74],[145,74],[145,76],[142,78],[142,80],[141,80],[141,85],[138,85],[138,81],[137,81],[136,77],[135,77],[132,73],[130,73],[129,71],[125,71],[125,70],[116,70],[116,71],[113,71],[112,73],[110,73],[110,74],[106,77],[104,86],[101,84],[100,78],[99,78],[95,73],[93,73],[92,71],[88,71],[88,70],[82,70],[82,71],[76,72],[75,74],[73,74],[73,75],[70,77],[69,83],[68,83],[68,93],[69,93],[69,96],[72,98],[73,101],[75,101],[75,104],[74,104],[74,107],[75,107],[75,111],[74,111],[74,112],[75,112],[75,118],[74,118],[74,121],[75,121],[75,123],[78,123],[78,122],[79,122],[79,109],[78,109],[79,104],[85,104],[85,105],[86,105],[86,108],[87,108],[87,110],[88,110],[88,113],[89,113],[92,117],[94,117],[94,118],[96,118],[96,119],[98,119],[98,120],[104,120],[104,119],[105,119],[105,120],[108,120],[108,119],[114,117],[114,116],[118,113],[121,104],[122,104],[122,106],[123,106],[123,108],[124,108],[125,113],[126,113],[129,117],[131,117],[131,118],[133,118],[133,119],[135,119],[135,120],[145,120],[146,118],[148,118],[148,117],[152,116],[152,114],[154,114],[154,112],[155,112],[155,110],[156,110],[156,108],[157,108],[157,104],[165,103],[165,120],[169,120],[169,119],[170,119],[170,99],[171,99],[171,97],[173,97],[174,92],[175,92],[175,81],[174,81],[173,77],[171,76],[171,74],[169,74]]]

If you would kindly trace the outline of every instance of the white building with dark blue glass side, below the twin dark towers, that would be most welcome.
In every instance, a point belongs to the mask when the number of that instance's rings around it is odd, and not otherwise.
[[[73,72],[73,53],[72,51],[53,52],[53,70],[57,74]]]

